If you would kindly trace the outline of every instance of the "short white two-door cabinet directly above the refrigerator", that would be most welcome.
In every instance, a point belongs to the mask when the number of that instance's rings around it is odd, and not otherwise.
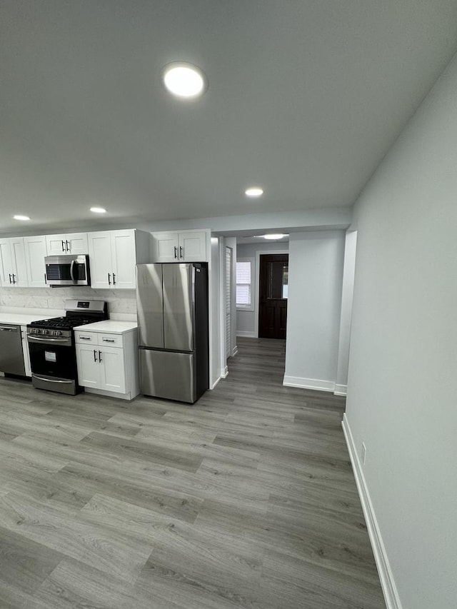
[[[152,257],[154,262],[206,262],[205,231],[154,233]]]

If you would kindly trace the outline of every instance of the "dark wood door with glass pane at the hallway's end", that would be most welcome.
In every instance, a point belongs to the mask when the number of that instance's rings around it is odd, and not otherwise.
[[[286,338],[288,254],[260,257],[258,336]]]

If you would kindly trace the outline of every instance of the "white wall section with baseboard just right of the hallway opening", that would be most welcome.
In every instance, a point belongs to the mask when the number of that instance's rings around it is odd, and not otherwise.
[[[344,231],[291,233],[284,384],[333,391]]]

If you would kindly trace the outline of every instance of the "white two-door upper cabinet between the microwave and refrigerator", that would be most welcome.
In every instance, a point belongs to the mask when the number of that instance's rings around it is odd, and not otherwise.
[[[89,264],[93,288],[136,288],[137,232],[127,229],[89,233]],[[147,236],[147,233],[144,234]]]

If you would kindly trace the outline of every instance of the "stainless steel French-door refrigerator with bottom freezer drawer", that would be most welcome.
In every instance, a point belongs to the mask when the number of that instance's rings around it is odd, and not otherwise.
[[[141,393],[194,403],[209,388],[208,266],[138,264]]]

